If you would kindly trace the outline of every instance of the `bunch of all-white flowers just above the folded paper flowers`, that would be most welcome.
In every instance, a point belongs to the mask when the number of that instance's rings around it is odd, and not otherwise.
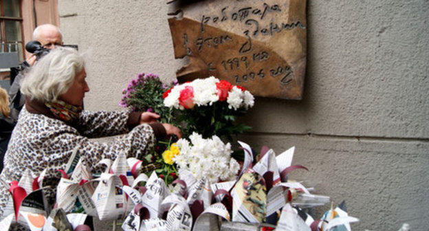
[[[223,144],[221,139],[213,135],[211,139],[203,139],[198,133],[177,141],[178,155],[172,158],[180,170],[189,170],[199,180],[207,177],[210,184],[231,181],[236,178],[240,165],[231,157],[231,144]]]

